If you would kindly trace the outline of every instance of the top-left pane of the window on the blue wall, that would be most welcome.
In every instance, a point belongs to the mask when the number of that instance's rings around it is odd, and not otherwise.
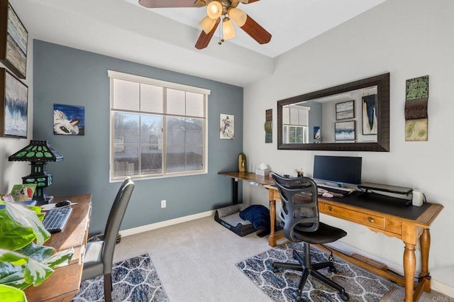
[[[113,108],[139,110],[139,84],[135,82],[114,79]]]

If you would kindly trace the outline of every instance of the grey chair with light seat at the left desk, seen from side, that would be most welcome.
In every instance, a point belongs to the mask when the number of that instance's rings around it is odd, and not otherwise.
[[[95,276],[104,275],[104,299],[112,301],[112,265],[114,260],[114,249],[120,230],[121,221],[126,212],[131,194],[135,184],[130,177],[127,177],[121,184],[114,204],[111,207],[109,218],[102,241],[87,243],[84,257],[84,268],[82,270],[82,281],[92,279]]]

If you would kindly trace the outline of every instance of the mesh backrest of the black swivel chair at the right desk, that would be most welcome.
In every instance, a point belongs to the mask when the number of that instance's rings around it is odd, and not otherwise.
[[[272,174],[282,208],[279,218],[284,223],[284,235],[289,240],[297,241],[294,230],[314,232],[319,228],[319,203],[317,185],[309,177],[287,178]]]

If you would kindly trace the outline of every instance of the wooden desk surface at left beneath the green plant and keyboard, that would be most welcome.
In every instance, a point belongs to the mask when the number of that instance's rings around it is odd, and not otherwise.
[[[25,290],[29,302],[38,301],[71,301],[79,292],[84,253],[87,245],[90,214],[92,213],[92,195],[55,197],[53,202],[69,199],[74,203],[72,213],[65,230],[52,233],[45,245],[57,251],[74,247],[70,264],[55,269],[49,279],[37,287],[30,286]]]

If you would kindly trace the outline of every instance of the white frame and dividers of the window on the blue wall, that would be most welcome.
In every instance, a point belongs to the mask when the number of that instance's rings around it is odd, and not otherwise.
[[[204,89],[204,88],[199,88],[195,86],[189,86],[189,85],[184,85],[184,84],[178,84],[178,83],[173,83],[173,82],[167,82],[167,81],[162,81],[160,79],[153,79],[149,77],[141,77],[138,75],[134,74],[127,74],[124,72],[116,72],[114,70],[107,70],[107,74],[110,78],[110,101],[109,101],[109,113],[110,113],[110,142],[109,142],[109,179],[110,181],[120,181],[123,180],[125,176],[131,176],[133,179],[156,179],[156,178],[163,178],[163,177],[179,177],[179,176],[187,176],[187,175],[194,175],[194,174],[206,174],[208,173],[208,96],[211,92],[209,89]],[[114,108],[114,79],[121,79],[129,82],[136,82],[139,84],[149,84],[153,86],[160,86],[164,89],[177,89],[181,91],[187,91],[187,92],[193,92],[196,94],[204,94],[204,117],[196,117],[198,119],[202,119],[203,121],[203,138],[202,138],[202,144],[203,144],[203,169],[197,170],[197,171],[188,171],[188,172],[166,172],[166,160],[165,160],[165,140],[163,142],[163,150],[162,150],[162,173],[161,174],[147,174],[147,175],[140,175],[140,172],[138,175],[125,175],[121,177],[116,177],[114,176],[114,128],[113,128],[113,120],[114,120],[114,113],[115,112],[121,112],[121,113],[137,113],[137,114],[150,114],[149,111],[125,111],[121,109]],[[165,97],[164,97],[165,99]],[[165,102],[165,100],[162,100]],[[167,114],[167,113],[151,113],[153,115],[157,116],[162,116],[164,118],[166,116],[175,116],[172,114]],[[191,117],[191,116],[179,116],[179,117]],[[165,122],[163,123],[163,129],[162,129],[162,138],[165,138]],[[141,143],[140,141],[138,142],[138,145],[140,146]]]

